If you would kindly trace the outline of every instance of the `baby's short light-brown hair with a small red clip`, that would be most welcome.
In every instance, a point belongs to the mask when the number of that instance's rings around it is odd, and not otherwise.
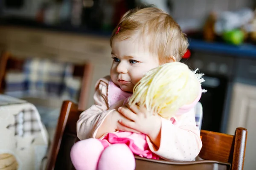
[[[112,33],[111,46],[114,38],[148,42],[147,48],[158,55],[160,64],[180,61],[188,47],[180,26],[169,14],[155,7],[126,12]]]

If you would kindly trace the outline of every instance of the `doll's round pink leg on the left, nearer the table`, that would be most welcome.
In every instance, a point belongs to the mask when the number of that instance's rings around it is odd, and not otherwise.
[[[86,139],[73,145],[70,158],[76,170],[96,170],[103,150],[104,147],[98,139]]]

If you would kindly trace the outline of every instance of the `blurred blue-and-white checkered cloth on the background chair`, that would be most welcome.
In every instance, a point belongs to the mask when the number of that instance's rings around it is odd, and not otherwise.
[[[73,77],[73,65],[50,59],[26,59],[22,73],[8,72],[6,94],[10,96],[58,96],[77,101],[81,79]]]

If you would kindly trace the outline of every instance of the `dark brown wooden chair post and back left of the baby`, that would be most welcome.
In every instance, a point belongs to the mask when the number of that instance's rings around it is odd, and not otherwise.
[[[64,101],[58,119],[55,136],[47,157],[47,170],[72,170],[70,150],[77,141],[76,122],[81,111],[78,105]]]

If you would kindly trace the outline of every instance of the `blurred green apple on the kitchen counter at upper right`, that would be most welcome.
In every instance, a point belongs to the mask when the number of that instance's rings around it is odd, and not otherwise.
[[[222,34],[222,38],[230,44],[239,45],[244,41],[244,32],[239,29],[226,31]]]

